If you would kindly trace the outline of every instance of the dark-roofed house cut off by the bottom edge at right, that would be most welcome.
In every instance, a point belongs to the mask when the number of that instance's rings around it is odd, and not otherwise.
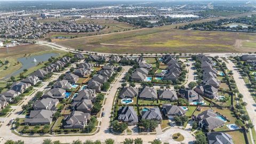
[[[207,133],[209,144],[234,144],[232,137],[223,132]]]

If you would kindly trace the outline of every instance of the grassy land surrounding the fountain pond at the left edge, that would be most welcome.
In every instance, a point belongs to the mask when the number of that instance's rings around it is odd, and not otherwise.
[[[55,50],[50,49],[47,46],[37,45],[37,44],[9,47],[8,53],[5,48],[0,49],[0,60],[3,62],[5,60],[9,61],[9,63],[7,65],[3,65],[2,67],[0,67],[0,78],[3,78],[6,75],[13,73],[13,71],[21,68],[22,64],[17,63],[18,62],[17,59],[21,58],[21,57],[25,57],[25,54],[27,54],[27,56],[28,56],[29,54],[30,55],[39,55],[39,54],[52,53],[52,52],[61,53],[61,54],[65,53],[62,51],[55,51]],[[5,66],[7,66],[8,68],[6,69]],[[28,71],[24,75],[27,76],[28,74],[33,73],[35,70],[37,70],[43,66],[44,65],[38,65],[36,67],[32,67],[32,68],[28,69]]]

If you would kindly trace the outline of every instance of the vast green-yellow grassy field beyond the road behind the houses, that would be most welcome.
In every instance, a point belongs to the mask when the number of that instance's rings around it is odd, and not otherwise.
[[[236,39],[255,34],[173,29],[174,25],[58,41],[75,49],[108,53],[240,52]]]

